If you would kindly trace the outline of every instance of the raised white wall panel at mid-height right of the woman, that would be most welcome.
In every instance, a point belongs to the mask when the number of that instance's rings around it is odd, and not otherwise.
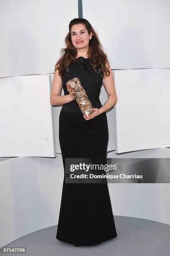
[[[170,146],[170,69],[114,71],[117,153]]]

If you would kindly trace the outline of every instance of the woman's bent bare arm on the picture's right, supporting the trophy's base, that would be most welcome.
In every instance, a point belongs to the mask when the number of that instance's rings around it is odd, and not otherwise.
[[[108,64],[107,64],[107,67],[108,67]],[[108,68],[109,68],[110,74],[108,77],[105,77],[105,79],[103,78],[103,85],[107,92],[108,100],[104,103],[104,105],[101,108],[99,108],[100,114],[109,110],[117,103],[117,94],[114,86],[114,78],[113,78],[110,65]]]

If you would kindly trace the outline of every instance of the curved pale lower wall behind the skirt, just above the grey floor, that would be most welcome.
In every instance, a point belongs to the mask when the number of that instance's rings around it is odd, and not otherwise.
[[[58,224],[63,174],[61,154],[55,159],[17,157],[0,162],[0,247]],[[113,183],[108,187],[114,215],[170,225],[169,184]]]

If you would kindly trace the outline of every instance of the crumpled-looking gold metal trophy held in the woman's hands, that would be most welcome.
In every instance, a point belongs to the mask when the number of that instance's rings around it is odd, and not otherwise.
[[[84,90],[79,78],[74,77],[73,79],[68,81],[68,84],[71,88],[74,89],[73,93],[82,113],[84,115],[92,115],[94,113],[93,107],[90,100],[88,99],[88,96],[86,95],[86,91]]]

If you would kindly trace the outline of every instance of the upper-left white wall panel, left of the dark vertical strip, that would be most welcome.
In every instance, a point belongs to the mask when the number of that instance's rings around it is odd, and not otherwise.
[[[76,17],[77,0],[0,0],[0,77],[53,73]]]

